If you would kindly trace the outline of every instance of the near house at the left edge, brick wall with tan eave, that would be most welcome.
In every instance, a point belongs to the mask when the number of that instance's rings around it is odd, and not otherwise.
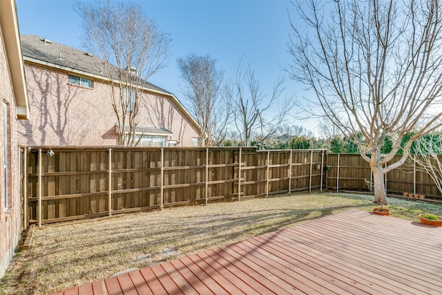
[[[14,0],[0,1],[0,277],[21,232],[19,120],[29,117],[28,93]]]

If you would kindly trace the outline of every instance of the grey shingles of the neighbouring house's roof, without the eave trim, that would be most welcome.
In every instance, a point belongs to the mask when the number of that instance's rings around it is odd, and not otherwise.
[[[79,70],[97,77],[111,78],[102,72],[105,61],[95,55],[86,53],[84,50],[59,44],[35,35],[22,35],[21,46],[23,56],[28,61],[36,59],[61,68]],[[112,68],[115,70],[113,76],[117,77],[117,67],[112,66]],[[144,86],[149,90],[171,94],[149,82],[145,82]]]

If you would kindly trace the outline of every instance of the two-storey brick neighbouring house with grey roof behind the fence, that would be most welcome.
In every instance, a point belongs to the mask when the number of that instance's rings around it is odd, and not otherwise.
[[[22,122],[26,146],[117,144],[117,117],[103,61],[34,35],[21,36],[31,117]],[[198,123],[172,93],[144,86],[135,133],[142,146],[194,146]]]

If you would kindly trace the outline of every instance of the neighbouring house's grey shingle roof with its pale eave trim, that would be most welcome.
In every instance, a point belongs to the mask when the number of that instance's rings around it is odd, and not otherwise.
[[[102,71],[105,61],[95,55],[90,55],[83,50],[59,44],[35,35],[22,35],[21,46],[23,50],[23,59],[25,61],[66,70],[86,77],[94,77],[95,79],[111,80],[111,77],[106,77],[105,73]],[[114,77],[117,77],[117,67],[114,67]],[[201,129],[195,118],[193,118],[189,111],[184,108],[175,95],[149,82],[145,82],[144,90],[171,97],[181,111],[189,117],[189,120],[191,120],[194,126],[197,127],[198,130]]]

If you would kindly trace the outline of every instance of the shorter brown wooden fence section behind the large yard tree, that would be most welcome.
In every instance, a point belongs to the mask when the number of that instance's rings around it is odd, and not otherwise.
[[[396,155],[387,165],[401,158]],[[407,163],[407,162],[406,162]],[[359,154],[327,154],[326,189],[343,191],[372,191],[369,183],[373,182],[369,163]],[[368,184],[367,184],[368,182]],[[412,164],[403,164],[385,175],[387,193],[400,194],[418,193],[434,198],[442,195],[430,175],[416,169]]]

